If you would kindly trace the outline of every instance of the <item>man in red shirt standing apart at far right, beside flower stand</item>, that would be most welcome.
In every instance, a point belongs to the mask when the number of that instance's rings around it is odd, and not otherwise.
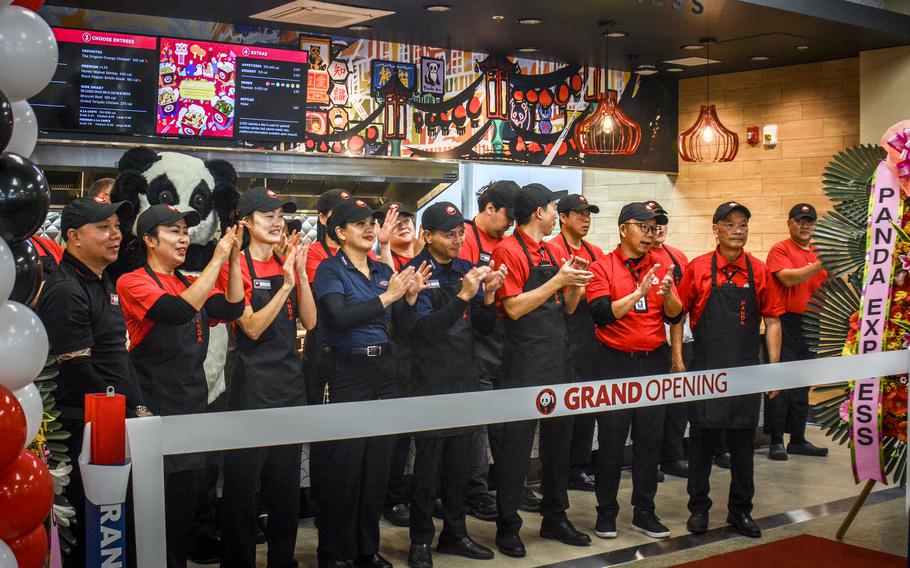
[[[803,336],[803,313],[812,294],[828,279],[828,273],[809,244],[817,218],[811,204],[794,205],[787,221],[790,238],[776,243],[768,252],[768,270],[774,275],[773,283],[783,298],[785,310],[780,316],[781,361],[814,358]],[[771,436],[769,458],[786,460],[788,454],[828,455],[828,448],[819,448],[806,440],[808,416],[809,387],[783,390],[778,396],[765,400],[765,433]],[[786,449],[784,432],[790,434]]]

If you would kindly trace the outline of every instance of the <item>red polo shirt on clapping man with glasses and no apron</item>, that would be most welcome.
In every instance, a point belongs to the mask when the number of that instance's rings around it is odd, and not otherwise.
[[[643,278],[655,264],[655,258],[650,252],[637,264],[632,264],[617,246],[591,265],[594,279],[588,284],[588,302],[597,298],[609,298],[611,301],[625,298],[638,287],[636,279]],[[663,279],[666,274],[667,268],[662,265],[654,275]],[[659,288],[651,287],[645,296],[646,305],[641,311],[633,307],[615,322],[605,327],[596,327],[594,333],[597,339],[611,349],[627,352],[654,351],[666,343],[664,299],[657,295]]]

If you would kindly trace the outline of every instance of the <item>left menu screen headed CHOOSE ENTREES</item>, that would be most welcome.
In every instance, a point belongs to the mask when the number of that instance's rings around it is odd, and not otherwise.
[[[153,134],[157,39],[53,28],[59,60],[29,100],[46,130]]]

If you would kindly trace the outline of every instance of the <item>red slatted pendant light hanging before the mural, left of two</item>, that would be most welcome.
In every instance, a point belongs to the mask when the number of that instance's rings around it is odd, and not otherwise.
[[[600,93],[594,112],[575,128],[575,141],[584,154],[630,155],[641,143],[641,126],[622,112],[616,91],[610,89],[610,39],[606,34],[605,37],[606,89]]]

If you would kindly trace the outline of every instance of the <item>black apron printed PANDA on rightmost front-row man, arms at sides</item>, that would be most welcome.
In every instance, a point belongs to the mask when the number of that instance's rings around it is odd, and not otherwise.
[[[711,256],[711,295],[708,296],[705,311],[695,324],[693,370],[759,363],[761,316],[749,257],[746,257],[746,269],[748,287],[740,288],[729,281],[718,285],[717,253]],[[689,419],[704,428],[755,428],[758,426],[761,397],[757,393],[693,402]]]

